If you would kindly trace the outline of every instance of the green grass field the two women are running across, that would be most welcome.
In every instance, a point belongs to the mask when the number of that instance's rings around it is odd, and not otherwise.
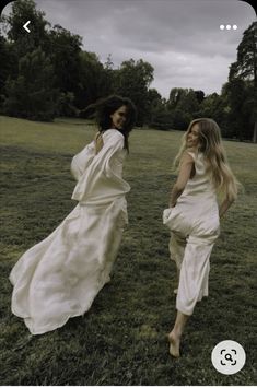
[[[196,307],[182,344],[168,355],[165,334],[175,318],[176,270],[162,224],[171,165],[182,132],[135,130],[124,177],[129,225],[113,281],[91,310],[62,328],[33,337],[10,310],[9,273],[74,208],[70,162],[92,140],[85,121],[55,124],[0,117],[1,126],[1,385],[256,385],[257,148],[227,142],[231,166],[245,191],[221,225],[211,256],[210,296]],[[255,293],[255,298],[254,298]],[[235,375],[218,373],[211,351],[223,340],[246,351]]]

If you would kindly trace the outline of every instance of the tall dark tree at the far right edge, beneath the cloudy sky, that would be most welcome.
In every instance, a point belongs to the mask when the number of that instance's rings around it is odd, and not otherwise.
[[[253,141],[257,142],[257,22],[252,23],[244,32],[237,47],[236,62],[230,67],[229,82],[235,84],[235,80],[242,80],[249,89],[248,99],[244,101],[244,104],[247,110],[252,110]],[[234,115],[236,115],[236,106],[232,102]]]

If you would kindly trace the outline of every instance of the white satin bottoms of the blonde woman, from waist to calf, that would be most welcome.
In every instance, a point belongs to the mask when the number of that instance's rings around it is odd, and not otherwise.
[[[196,303],[208,296],[210,255],[220,233],[218,208],[200,217],[166,209],[163,222],[171,230],[168,248],[179,273],[176,308],[191,315]]]

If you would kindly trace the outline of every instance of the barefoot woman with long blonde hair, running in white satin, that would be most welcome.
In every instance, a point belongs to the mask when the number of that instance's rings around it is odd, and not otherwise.
[[[171,230],[170,252],[176,262],[178,289],[175,325],[168,334],[170,353],[178,357],[180,338],[198,301],[208,296],[209,258],[222,217],[237,196],[222,145],[221,132],[210,118],[190,122],[175,157],[178,177],[163,223]],[[223,196],[220,208],[217,195]]]

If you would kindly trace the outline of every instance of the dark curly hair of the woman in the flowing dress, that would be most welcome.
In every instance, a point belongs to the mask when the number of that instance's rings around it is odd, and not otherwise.
[[[136,119],[137,119],[137,108],[130,98],[121,97],[118,95],[110,95],[106,98],[98,99],[95,104],[91,104],[86,110],[93,109],[95,111],[95,119],[98,125],[98,131],[104,132],[107,129],[112,128],[112,118],[117,109],[121,106],[127,107],[127,117],[122,129],[117,129],[124,136],[124,145],[127,151],[129,151],[128,137],[129,132],[131,132]]]

